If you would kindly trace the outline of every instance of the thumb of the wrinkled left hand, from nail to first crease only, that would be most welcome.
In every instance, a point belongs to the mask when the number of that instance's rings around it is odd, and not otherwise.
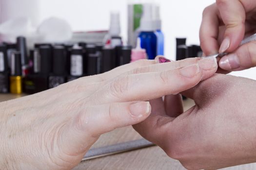
[[[151,113],[149,102],[119,102],[92,106],[78,117],[82,130],[92,136],[137,124]]]

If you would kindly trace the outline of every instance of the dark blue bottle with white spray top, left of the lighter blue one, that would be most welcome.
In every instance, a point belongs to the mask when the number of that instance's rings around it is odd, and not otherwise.
[[[143,16],[140,20],[140,45],[145,49],[148,59],[154,60],[157,56],[157,34],[153,19],[152,4],[143,5]]]

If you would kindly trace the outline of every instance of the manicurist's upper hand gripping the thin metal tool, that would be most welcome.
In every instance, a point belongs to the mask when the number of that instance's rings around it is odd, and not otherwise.
[[[229,52],[219,67],[243,70],[256,66],[256,41],[238,48],[242,39],[256,33],[256,0],[217,0],[205,8],[200,28],[205,55]]]

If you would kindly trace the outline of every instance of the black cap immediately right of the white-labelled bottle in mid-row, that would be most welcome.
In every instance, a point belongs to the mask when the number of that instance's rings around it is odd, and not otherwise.
[[[87,63],[87,75],[92,76],[98,73],[98,54],[89,54]]]

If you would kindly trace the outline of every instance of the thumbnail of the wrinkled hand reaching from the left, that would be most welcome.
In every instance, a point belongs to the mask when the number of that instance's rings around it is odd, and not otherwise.
[[[137,102],[130,105],[131,115],[134,117],[142,117],[151,112],[151,105],[149,102]]]

